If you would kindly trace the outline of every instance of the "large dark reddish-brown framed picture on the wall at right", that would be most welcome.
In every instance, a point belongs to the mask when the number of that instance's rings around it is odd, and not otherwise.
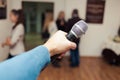
[[[105,0],[87,0],[86,22],[103,23]]]

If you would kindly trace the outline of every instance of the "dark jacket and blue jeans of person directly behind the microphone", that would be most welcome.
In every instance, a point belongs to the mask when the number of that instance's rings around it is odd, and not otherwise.
[[[66,32],[69,32],[73,25],[81,20],[79,17],[74,17],[68,20],[67,25],[66,25]],[[77,48],[75,50],[70,50],[70,61],[71,61],[71,66],[78,66],[79,65],[79,42],[80,39],[76,40]]]

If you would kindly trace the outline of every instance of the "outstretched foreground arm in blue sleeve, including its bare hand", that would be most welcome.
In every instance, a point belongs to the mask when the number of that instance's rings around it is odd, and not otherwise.
[[[0,63],[0,80],[37,80],[51,56],[76,48],[66,35],[58,31],[44,45]]]

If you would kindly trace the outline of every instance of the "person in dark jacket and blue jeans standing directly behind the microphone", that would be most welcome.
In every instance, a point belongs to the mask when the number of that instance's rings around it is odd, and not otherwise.
[[[72,26],[79,20],[81,20],[81,18],[79,17],[78,10],[74,9],[72,12],[72,18],[70,18],[67,22],[66,32],[69,32],[71,30]],[[70,50],[70,66],[71,67],[77,67],[77,66],[79,66],[79,63],[80,63],[79,62],[79,60],[80,60],[79,42],[80,42],[80,38],[76,40],[77,48],[75,50]]]

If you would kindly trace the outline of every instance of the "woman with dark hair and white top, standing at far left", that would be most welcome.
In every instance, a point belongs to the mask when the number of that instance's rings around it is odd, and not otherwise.
[[[3,46],[10,46],[9,58],[25,52],[24,48],[24,26],[22,10],[12,10],[10,19],[15,24],[12,28],[11,37],[8,37],[3,43]]]

